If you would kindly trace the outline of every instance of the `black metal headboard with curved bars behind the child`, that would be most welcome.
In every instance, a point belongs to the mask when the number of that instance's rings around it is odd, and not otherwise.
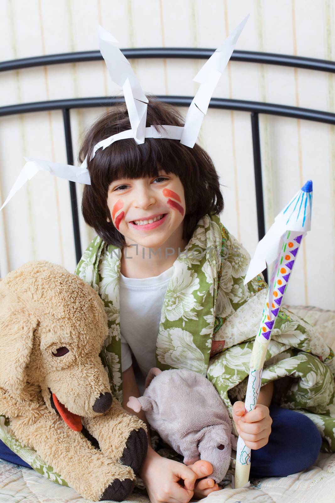
[[[192,48],[142,48],[142,49],[122,49],[122,52],[128,59],[132,58],[193,58],[208,59],[214,52],[214,49],[192,49]],[[102,60],[99,51],[71,52],[66,54],[51,54],[49,56],[37,56],[24,59],[15,59],[11,61],[0,62],[0,71],[17,70],[30,68],[33,66],[45,66],[61,63],[79,63],[85,61]],[[248,63],[263,63],[282,66],[293,66],[295,68],[305,68],[309,70],[319,70],[335,73],[335,62],[322,59],[311,59],[298,56],[287,56],[282,54],[270,54],[262,52],[234,51],[231,57],[232,61],[244,61]],[[171,105],[188,107],[193,99],[189,96],[158,96],[158,98]],[[116,98],[74,98],[68,100],[53,100],[34,103],[21,103],[18,105],[9,105],[0,107],[0,117],[24,114],[28,112],[41,112],[51,110],[62,110],[64,120],[64,132],[66,142],[67,163],[73,164],[73,148],[70,126],[70,110],[74,108],[90,107],[111,107],[120,99]],[[262,165],[261,148],[259,134],[259,114],[280,115],[294,119],[306,119],[327,124],[335,124],[335,114],[311,110],[306,108],[289,107],[285,105],[276,105],[273,103],[263,103],[244,100],[228,100],[224,98],[212,98],[209,103],[210,108],[221,110],[236,110],[249,112],[251,114],[251,131],[253,138],[254,168],[255,168],[255,187],[256,187],[256,205],[258,237],[261,239],[265,234],[263,186],[262,186]],[[76,260],[79,262],[81,257],[81,243],[79,231],[79,217],[77,195],[75,183],[70,184],[70,197],[73,221],[73,233]],[[265,274],[266,276],[266,274]]]

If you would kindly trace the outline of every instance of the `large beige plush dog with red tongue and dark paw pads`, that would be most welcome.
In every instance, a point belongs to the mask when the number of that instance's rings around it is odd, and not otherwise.
[[[121,501],[147,435],[112,400],[99,359],[106,337],[101,299],[64,268],[30,262],[0,281],[0,413],[83,497]]]

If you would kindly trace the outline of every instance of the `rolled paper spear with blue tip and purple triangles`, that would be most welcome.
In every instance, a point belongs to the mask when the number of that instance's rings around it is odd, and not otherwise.
[[[266,263],[270,265],[274,261],[267,300],[251,353],[245,399],[247,412],[256,407],[271,332],[291,278],[301,241],[310,230],[312,190],[313,185],[309,180],[276,216],[274,224],[258,243],[245,277],[244,284],[247,284],[265,269]],[[243,487],[249,481],[250,457],[251,449],[239,437],[235,466],[236,488]]]

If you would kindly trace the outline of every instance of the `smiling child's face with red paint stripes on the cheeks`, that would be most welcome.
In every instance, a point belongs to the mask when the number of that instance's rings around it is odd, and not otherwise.
[[[156,178],[115,180],[108,187],[107,206],[127,244],[156,248],[173,234],[182,236],[184,188],[172,173],[159,170]]]

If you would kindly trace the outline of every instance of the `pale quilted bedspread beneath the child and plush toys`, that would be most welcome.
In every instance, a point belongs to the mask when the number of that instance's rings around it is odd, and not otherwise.
[[[211,493],[203,503],[333,503],[335,500],[335,454],[320,454],[314,466],[288,477],[254,480],[244,489]],[[30,468],[0,461],[0,501],[12,503],[85,503],[70,487],[55,484]],[[127,501],[148,503],[133,493]]]

